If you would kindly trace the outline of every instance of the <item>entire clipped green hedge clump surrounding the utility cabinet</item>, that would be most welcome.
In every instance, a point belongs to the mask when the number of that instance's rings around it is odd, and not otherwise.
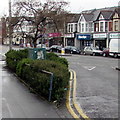
[[[69,82],[68,62],[54,53],[47,53],[46,60],[32,60],[27,58],[28,51],[11,50],[6,54],[9,68],[14,70],[38,94],[48,99],[50,75],[42,70],[53,73],[51,101],[61,102],[64,99],[65,89]]]

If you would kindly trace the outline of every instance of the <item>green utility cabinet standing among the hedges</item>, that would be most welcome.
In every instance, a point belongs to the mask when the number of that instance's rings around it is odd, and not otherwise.
[[[29,48],[29,58],[31,59],[46,59],[45,48]]]

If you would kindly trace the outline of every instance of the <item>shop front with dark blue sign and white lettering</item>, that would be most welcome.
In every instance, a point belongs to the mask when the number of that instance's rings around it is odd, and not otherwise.
[[[76,46],[79,47],[81,51],[83,51],[84,47],[93,45],[92,34],[78,34],[76,39]]]

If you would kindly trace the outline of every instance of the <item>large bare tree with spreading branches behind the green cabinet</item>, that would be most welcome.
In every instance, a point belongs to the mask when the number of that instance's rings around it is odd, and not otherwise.
[[[32,40],[36,47],[36,41],[50,31],[49,25],[54,32],[62,32],[68,15],[65,10],[67,5],[68,2],[53,0],[45,3],[36,0],[16,1],[13,11],[17,20],[13,26],[21,31],[23,37]],[[29,26],[29,30],[25,31],[23,26]]]

